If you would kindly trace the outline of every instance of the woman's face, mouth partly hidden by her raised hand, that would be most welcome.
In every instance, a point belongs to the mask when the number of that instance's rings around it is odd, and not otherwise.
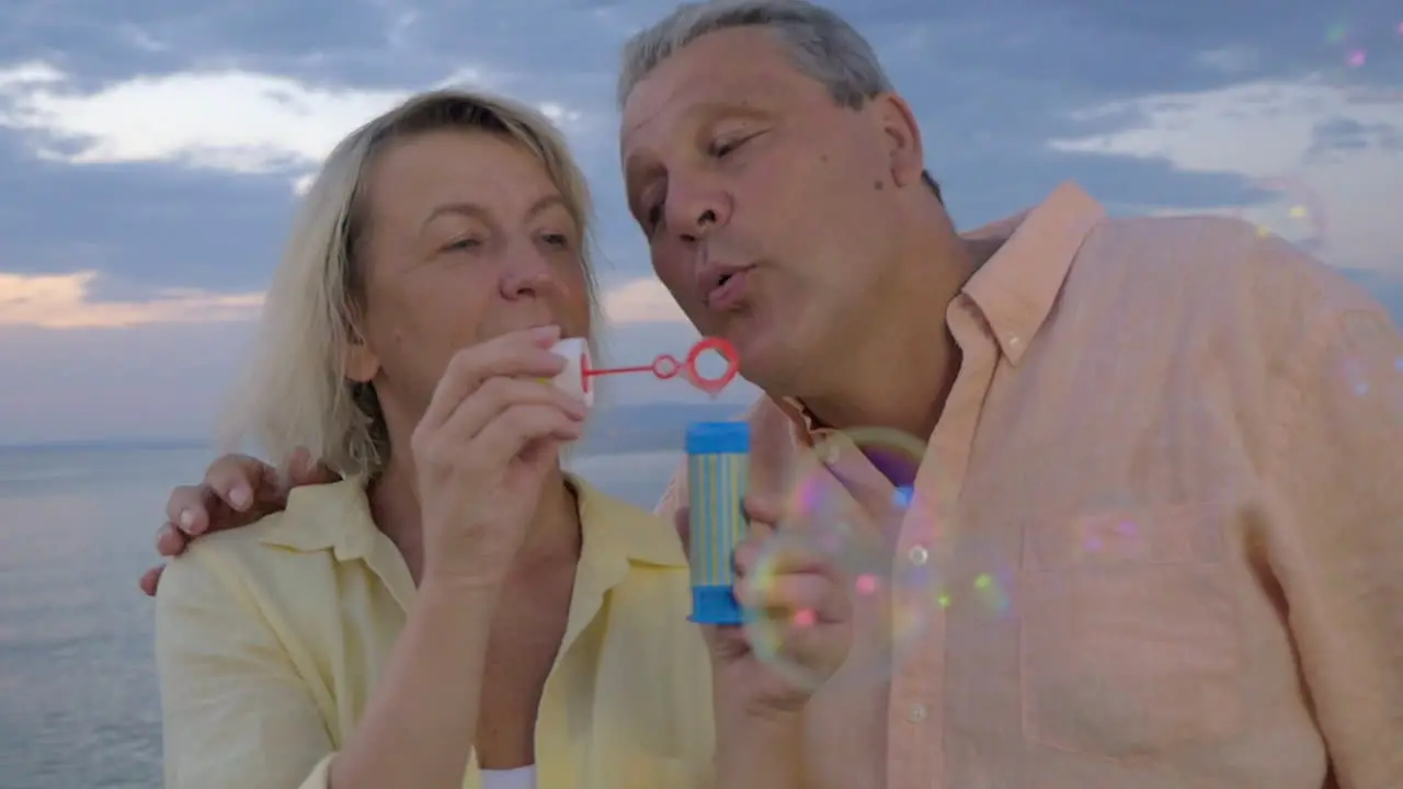
[[[397,140],[366,183],[362,345],[348,375],[418,420],[448,361],[499,334],[589,330],[582,227],[544,166],[487,132]]]

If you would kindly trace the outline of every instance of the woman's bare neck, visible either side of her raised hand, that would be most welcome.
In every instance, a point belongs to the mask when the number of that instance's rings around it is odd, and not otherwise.
[[[419,583],[424,570],[424,525],[414,463],[408,458],[391,458],[368,493],[375,525],[400,549],[411,577]],[[528,525],[526,541],[516,555],[512,576],[535,574],[565,562],[574,567],[581,543],[579,503],[564,472],[556,466],[542,486],[540,501]]]

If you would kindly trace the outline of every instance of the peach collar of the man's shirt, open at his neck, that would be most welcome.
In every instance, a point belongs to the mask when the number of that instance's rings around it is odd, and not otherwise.
[[[961,233],[967,241],[999,244],[961,293],[984,313],[999,350],[1014,366],[1047,323],[1072,261],[1103,219],[1101,204],[1065,181],[1041,204]],[[790,418],[801,442],[812,444],[815,434],[826,430],[797,399],[773,402]]]

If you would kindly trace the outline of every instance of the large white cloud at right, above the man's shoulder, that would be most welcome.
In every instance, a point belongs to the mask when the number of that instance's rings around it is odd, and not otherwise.
[[[1263,199],[1222,212],[1305,241],[1336,265],[1403,271],[1403,100],[1396,91],[1251,81],[1110,102],[1076,119],[1122,128],[1055,139],[1052,149],[1239,175]]]

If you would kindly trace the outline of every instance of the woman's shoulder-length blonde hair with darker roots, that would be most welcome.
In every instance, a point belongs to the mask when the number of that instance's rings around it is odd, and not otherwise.
[[[366,173],[391,142],[435,131],[501,135],[533,153],[585,230],[591,314],[598,326],[598,285],[589,258],[589,190],[560,131],[540,112],[476,91],[424,93],[352,132],[327,157],[303,198],[262,307],[260,331],[243,385],[223,420],[226,448],[254,439],[274,463],[304,446],[341,475],[375,476],[387,437],[369,385],[345,375],[345,350],[358,336],[363,299]]]

